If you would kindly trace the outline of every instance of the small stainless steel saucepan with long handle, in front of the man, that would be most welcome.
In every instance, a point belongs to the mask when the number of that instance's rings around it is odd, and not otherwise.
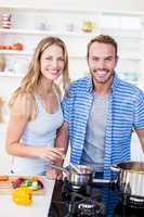
[[[86,165],[75,165],[75,167],[71,167],[70,165],[68,167],[60,167],[56,165],[50,165],[52,168],[62,170],[66,174],[68,181],[73,186],[84,186],[92,181],[92,169],[90,166]],[[77,169],[76,169],[77,168]]]

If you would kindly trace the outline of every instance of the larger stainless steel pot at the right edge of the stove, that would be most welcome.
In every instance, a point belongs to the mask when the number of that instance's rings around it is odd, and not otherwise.
[[[130,197],[144,199],[144,163],[123,162],[112,166],[113,171],[119,171],[118,184],[123,194]]]

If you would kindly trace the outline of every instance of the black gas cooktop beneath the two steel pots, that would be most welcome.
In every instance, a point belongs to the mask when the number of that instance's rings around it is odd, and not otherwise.
[[[144,205],[144,204],[143,204]],[[67,180],[56,181],[48,217],[139,217],[143,206],[129,203],[116,182],[91,183],[82,188]]]

